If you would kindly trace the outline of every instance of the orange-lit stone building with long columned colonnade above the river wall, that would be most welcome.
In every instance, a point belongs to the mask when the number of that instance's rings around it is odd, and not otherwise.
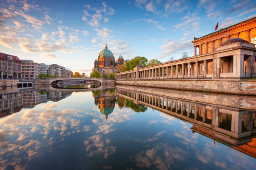
[[[256,17],[195,38],[195,56],[117,73],[117,80],[256,77]],[[197,53],[199,51],[199,55]]]

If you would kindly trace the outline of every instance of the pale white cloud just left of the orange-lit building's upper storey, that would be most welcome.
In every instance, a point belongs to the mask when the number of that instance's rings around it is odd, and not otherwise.
[[[167,44],[161,45],[161,49],[164,50],[164,52],[161,53],[159,56],[167,57],[169,55],[173,55],[174,52],[184,52],[187,48],[191,48],[193,45],[191,43],[191,40],[183,41],[183,42],[177,42],[177,41],[170,41]]]

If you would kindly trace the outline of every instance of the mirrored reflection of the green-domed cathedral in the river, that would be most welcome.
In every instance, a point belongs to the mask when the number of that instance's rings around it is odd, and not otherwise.
[[[95,105],[97,105],[100,112],[105,115],[107,121],[108,115],[113,112],[115,103],[118,102],[115,90],[92,91],[92,96],[94,97]]]

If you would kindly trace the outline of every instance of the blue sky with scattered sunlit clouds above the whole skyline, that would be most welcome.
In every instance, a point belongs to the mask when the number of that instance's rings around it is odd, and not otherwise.
[[[0,52],[90,75],[105,43],[115,60],[167,62],[255,16],[255,0],[0,0]]]

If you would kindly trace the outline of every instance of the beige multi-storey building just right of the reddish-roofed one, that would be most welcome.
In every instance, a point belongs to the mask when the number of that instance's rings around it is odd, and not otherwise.
[[[33,80],[40,74],[40,64],[33,60],[21,60],[22,64],[22,78],[26,80]]]

